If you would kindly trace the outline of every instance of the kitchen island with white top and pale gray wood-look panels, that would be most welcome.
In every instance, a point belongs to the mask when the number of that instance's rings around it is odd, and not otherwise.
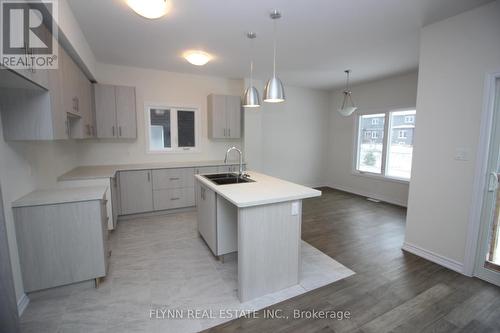
[[[241,302],[299,283],[302,200],[321,191],[253,171],[249,182],[196,177],[198,230],[216,256],[238,253]]]

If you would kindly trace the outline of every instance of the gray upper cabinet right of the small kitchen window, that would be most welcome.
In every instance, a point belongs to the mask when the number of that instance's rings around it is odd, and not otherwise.
[[[207,103],[209,138],[241,138],[240,97],[210,94]]]

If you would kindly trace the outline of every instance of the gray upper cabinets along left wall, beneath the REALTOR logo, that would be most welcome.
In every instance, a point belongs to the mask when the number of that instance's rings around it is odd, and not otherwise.
[[[65,140],[93,136],[90,81],[62,47],[59,48],[57,69],[31,72],[29,81],[26,75],[19,71],[0,71],[0,82],[18,82],[16,87],[0,85],[5,140]],[[38,82],[43,81],[44,86],[33,85],[35,77]]]

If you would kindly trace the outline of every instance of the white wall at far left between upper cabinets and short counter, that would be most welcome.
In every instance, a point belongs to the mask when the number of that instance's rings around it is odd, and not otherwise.
[[[1,117],[0,117],[1,118]],[[0,119],[0,181],[16,297],[23,293],[12,202],[37,188],[52,187],[76,166],[74,142],[5,142]]]

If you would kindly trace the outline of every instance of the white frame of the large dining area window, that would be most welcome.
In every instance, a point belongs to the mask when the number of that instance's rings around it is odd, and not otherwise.
[[[406,178],[399,178],[399,177],[393,177],[393,176],[388,176],[386,175],[386,167],[387,167],[387,160],[389,158],[388,153],[389,153],[389,140],[391,139],[391,133],[389,133],[389,129],[391,128],[391,113],[393,112],[399,112],[399,111],[416,111],[417,108],[415,106],[412,107],[402,107],[402,108],[391,108],[391,109],[382,109],[382,110],[370,110],[366,111],[363,113],[359,113],[356,115],[355,121],[354,121],[354,147],[353,147],[353,158],[352,158],[352,170],[351,174],[356,175],[356,176],[362,176],[362,177],[368,177],[372,179],[379,179],[379,180],[386,180],[386,181],[391,181],[391,182],[396,182],[396,183],[402,183],[402,184],[409,184],[411,181],[410,179]],[[372,115],[372,114],[384,114],[385,115],[385,121],[384,121],[384,138],[383,138],[383,146],[382,146],[382,161],[381,161],[381,168],[380,168],[380,173],[374,173],[374,172],[368,172],[368,171],[360,171],[358,170],[358,160],[359,160],[359,154],[360,154],[360,147],[359,147],[359,139],[360,139],[360,119],[361,116],[367,116],[367,115]],[[415,123],[415,121],[413,122]]]

